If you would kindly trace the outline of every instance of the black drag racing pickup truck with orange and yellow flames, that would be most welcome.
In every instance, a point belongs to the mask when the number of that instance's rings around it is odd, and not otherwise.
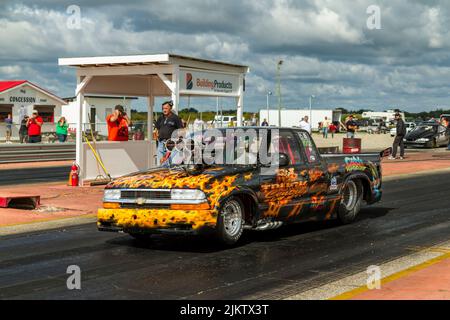
[[[270,163],[262,163],[258,154],[252,163],[172,164],[117,178],[104,190],[98,229],[141,240],[155,233],[213,233],[233,245],[246,229],[263,231],[310,220],[350,223],[363,202],[381,199],[381,157],[389,150],[320,154],[304,130],[252,130],[269,150]],[[226,137],[233,139],[232,134]],[[223,147],[230,144],[225,141]],[[231,147],[237,157],[248,150],[248,139],[245,150],[241,145]]]

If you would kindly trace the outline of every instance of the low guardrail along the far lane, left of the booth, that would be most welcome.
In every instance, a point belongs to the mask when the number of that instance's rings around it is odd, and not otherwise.
[[[0,163],[74,159],[75,143],[0,145]]]

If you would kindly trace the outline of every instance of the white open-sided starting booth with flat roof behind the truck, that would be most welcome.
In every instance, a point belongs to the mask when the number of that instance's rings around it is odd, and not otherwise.
[[[156,166],[156,141],[152,139],[155,97],[171,97],[175,112],[180,96],[233,97],[237,125],[242,125],[247,66],[173,54],[60,58],[58,63],[76,68],[76,163],[81,168],[81,184],[103,174],[90,147],[83,142],[85,95],[148,98],[148,140],[95,143],[113,178]]]

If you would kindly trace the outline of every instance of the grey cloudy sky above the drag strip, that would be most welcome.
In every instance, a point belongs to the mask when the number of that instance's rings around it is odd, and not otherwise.
[[[80,29],[67,26],[70,5],[81,9]],[[371,5],[379,29],[368,28]],[[249,65],[245,109],[253,111],[275,91],[283,59],[287,108],[306,107],[311,94],[316,108],[445,108],[449,13],[450,2],[438,0],[2,0],[0,79],[70,96],[75,73],[59,68],[59,57],[171,52]]]

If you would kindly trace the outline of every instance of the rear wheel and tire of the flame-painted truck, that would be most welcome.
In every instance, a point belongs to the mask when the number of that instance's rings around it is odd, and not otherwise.
[[[342,200],[338,208],[338,220],[348,224],[356,219],[363,200],[363,186],[359,180],[349,179],[341,190]]]

